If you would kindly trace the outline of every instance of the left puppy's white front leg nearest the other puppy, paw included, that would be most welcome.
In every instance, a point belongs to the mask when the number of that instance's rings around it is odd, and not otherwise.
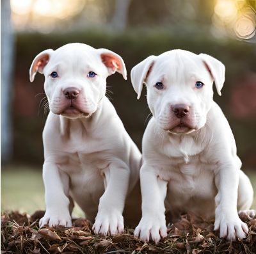
[[[130,170],[122,161],[115,161],[102,170],[105,192],[100,198],[98,214],[93,232],[100,235],[113,235],[124,232],[125,197],[127,194]]]

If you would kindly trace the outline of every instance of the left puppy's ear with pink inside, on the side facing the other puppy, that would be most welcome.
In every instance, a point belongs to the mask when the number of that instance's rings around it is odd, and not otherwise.
[[[118,54],[108,49],[98,49],[102,62],[108,68],[109,75],[118,72],[123,75],[124,79],[127,80],[127,72],[124,64],[124,60]]]

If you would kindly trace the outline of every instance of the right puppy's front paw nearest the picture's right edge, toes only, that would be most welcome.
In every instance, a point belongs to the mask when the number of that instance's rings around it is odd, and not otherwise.
[[[237,238],[243,239],[248,234],[248,226],[238,216],[234,219],[227,219],[223,216],[217,218],[214,230],[220,230],[220,237],[227,238],[228,241],[236,241]]]

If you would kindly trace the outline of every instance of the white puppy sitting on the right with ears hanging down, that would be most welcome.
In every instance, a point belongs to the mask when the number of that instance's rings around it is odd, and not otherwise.
[[[147,84],[153,115],[143,136],[143,215],[134,235],[158,242],[167,235],[164,212],[170,221],[193,212],[215,216],[220,237],[246,237],[237,209],[250,209],[253,189],[240,170],[227,119],[212,100],[213,80],[221,95],[224,65],[207,54],[173,50],[148,57],[132,68],[131,78],[138,99]]]

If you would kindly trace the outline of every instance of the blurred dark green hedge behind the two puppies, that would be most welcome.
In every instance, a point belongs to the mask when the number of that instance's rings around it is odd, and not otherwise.
[[[151,54],[158,55],[172,49],[185,49],[196,54],[204,52],[222,61],[226,66],[226,82],[222,90],[222,96],[218,97],[215,92],[214,100],[221,106],[230,122],[237,141],[238,154],[244,165],[249,168],[256,166],[255,118],[236,119],[232,116],[230,110],[232,85],[239,77],[249,72],[256,73],[255,45],[234,40],[217,40],[209,33],[200,33],[200,31],[180,34],[157,28],[127,30],[125,33],[109,30],[99,31],[99,29],[84,32],[74,31],[68,34],[19,33],[17,34],[14,88],[17,81],[19,81],[22,82],[24,90],[32,89],[32,93],[35,91],[34,96],[37,93],[42,93],[44,91],[44,77],[42,75],[36,75],[33,86],[29,83],[28,71],[33,59],[36,54],[45,49],[57,49],[72,42],[81,42],[95,48],[104,47],[120,54],[124,59],[128,81],[124,81],[122,75],[111,75],[111,77],[108,77],[108,90],[113,92],[113,94],[110,94],[113,99],[111,102],[139,148],[141,148],[143,131],[147,125],[145,121],[150,111],[147,108],[145,89],[141,99],[136,100],[136,93],[132,88],[129,77],[131,68]],[[36,100],[37,112],[42,96],[35,99],[31,97],[30,93],[30,96],[21,100],[21,102],[18,100],[19,96],[20,94],[16,92],[15,107],[13,107],[14,160],[23,163],[42,164],[44,159],[41,136],[46,117],[43,116],[42,111],[39,115],[35,113],[29,116],[17,113],[19,103],[24,105],[29,100]],[[254,155],[253,162],[252,159],[248,159],[248,153],[251,154],[250,158]]]

